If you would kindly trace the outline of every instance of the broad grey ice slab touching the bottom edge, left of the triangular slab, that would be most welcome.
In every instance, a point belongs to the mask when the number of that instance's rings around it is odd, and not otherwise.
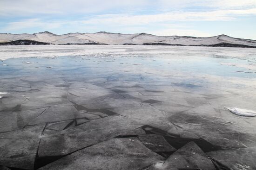
[[[164,158],[137,138],[110,139],[63,157],[40,170],[141,170]]]

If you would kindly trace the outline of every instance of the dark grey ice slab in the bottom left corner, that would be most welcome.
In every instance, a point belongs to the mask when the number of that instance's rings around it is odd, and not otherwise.
[[[0,164],[20,169],[34,169],[34,160],[45,125],[0,134]]]

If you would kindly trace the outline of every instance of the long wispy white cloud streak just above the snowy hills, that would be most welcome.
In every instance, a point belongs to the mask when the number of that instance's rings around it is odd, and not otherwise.
[[[234,20],[239,16],[256,15],[256,8],[249,10],[216,10],[209,12],[186,12],[174,11],[168,13],[136,15],[136,14],[104,14],[94,15],[88,18],[78,20],[43,20],[43,19],[25,19],[18,22],[7,23],[4,28],[7,31],[21,30],[32,27],[43,27],[45,30],[54,29],[63,25],[76,26],[135,26],[148,24],[166,24],[172,21],[228,21]],[[178,26],[178,25],[177,25]]]

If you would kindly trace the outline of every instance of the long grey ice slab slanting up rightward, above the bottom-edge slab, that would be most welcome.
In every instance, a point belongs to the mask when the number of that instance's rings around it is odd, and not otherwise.
[[[38,154],[40,157],[66,155],[89,145],[114,138],[139,126],[141,126],[140,123],[122,116],[92,120],[42,138]]]

